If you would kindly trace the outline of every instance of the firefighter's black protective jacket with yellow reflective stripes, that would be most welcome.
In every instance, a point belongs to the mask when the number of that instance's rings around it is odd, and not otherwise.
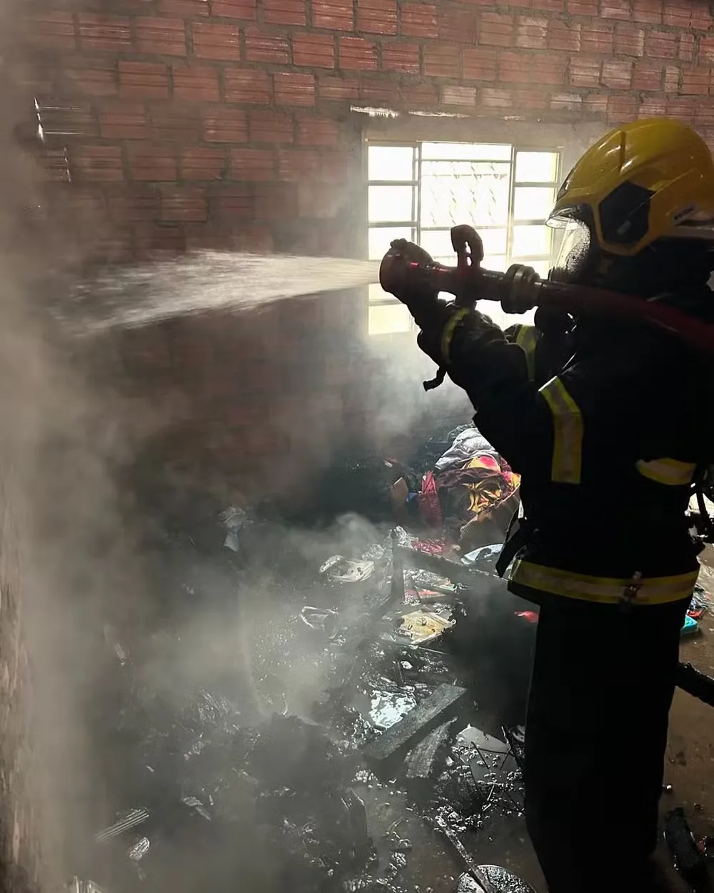
[[[710,305],[707,289],[687,309]],[[685,510],[714,462],[710,363],[642,323],[584,323],[559,344],[474,311],[447,341],[478,429],[521,475],[511,590],[541,604],[688,597],[699,547]]]

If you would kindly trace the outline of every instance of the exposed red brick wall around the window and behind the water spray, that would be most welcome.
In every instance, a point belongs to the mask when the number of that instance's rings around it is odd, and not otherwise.
[[[668,114],[714,143],[701,0],[36,0],[30,10],[29,95],[46,106],[49,167],[61,180],[66,149],[71,178],[50,184],[46,207],[62,221],[71,209],[66,238],[89,259],[202,247],[359,255],[368,119],[354,104],[461,116],[429,119],[436,137],[445,122],[474,138],[504,118],[604,129]],[[381,122],[387,136],[390,126]],[[377,387],[364,320],[354,296],[303,302],[234,320],[233,349],[219,320],[165,327],[151,349],[144,333],[121,351],[142,382],[186,397],[189,416],[211,415],[222,446],[208,464],[266,463],[291,438],[321,455],[318,440],[361,430],[365,380]],[[286,406],[302,408],[287,436]],[[204,425],[182,431],[188,452],[206,442]]]

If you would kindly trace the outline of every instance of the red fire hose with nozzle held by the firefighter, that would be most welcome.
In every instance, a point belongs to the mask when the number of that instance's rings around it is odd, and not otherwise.
[[[526,313],[552,307],[566,313],[592,313],[643,321],[681,338],[695,350],[714,354],[714,325],[708,325],[654,300],[620,295],[601,288],[542,280],[535,270],[513,264],[505,273],[481,269],[483,247],[476,230],[456,226],[451,232],[457,265],[415,263],[403,243],[393,243],[379,267],[379,284],[393,295],[430,289],[455,296],[455,304],[473,307],[477,301],[498,301],[505,313]]]

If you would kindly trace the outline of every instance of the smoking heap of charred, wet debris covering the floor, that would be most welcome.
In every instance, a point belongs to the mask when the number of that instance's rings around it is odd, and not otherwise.
[[[488,469],[479,480],[504,473]],[[403,520],[400,472],[387,498]],[[73,891],[533,893],[520,773],[536,618],[497,577],[497,546],[394,520],[358,524],[339,553],[236,507],[214,516],[210,555],[166,534],[153,625],[104,630],[105,789]],[[246,636],[245,603],[269,590],[279,611]],[[205,647],[221,630],[223,651],[202,676],[187,667],[206,613]]]

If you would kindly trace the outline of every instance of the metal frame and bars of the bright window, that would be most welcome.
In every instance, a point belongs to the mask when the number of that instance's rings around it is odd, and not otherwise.
[[[482,230],[506,230],[506,246],[505,246],[505,254],[504,255],[496,255],[503,256],[505,261],[505,267],[508,268],[511,263],[526,263],[528,265],[533,265],[534,263],[543,263],[544,261],[549,264],[552,263],[554,256],[557,254],[557,245],[556,240],[552,238],[551,240],[551,251],[547,255],[514,255],[513,254],[513,244],[514,244],[514,230],[517,226],[543,226],[543,220],[516,220],[514,215],[515,210],[515,197],[516,197],[516,189],[523,187],[530,188],[552,188],[553,195],[557,192],[557,189],[560,185],[560,179],[562,177],[562,173],[564,170],[564,164],[566,161],[566,150],[564,146],[560,143],[560,140],[554,139],[552,142],[547,142],[543,139],[537,140],[537,142],[532,142],[530,140],[522,140],[518,138],[504,138],[505,135],[502,135],[501,138],[488,139],[486,138],[478,139],[477,141],[473,139],[464,139],[464,138],[448,138],[446,136],[435,139],[435,138],[427,138],[425,135],[419,134],[418,138],[383,138],[380,136],[366,136],[364,140],[364,195],[365,195],[365,221],[366,226],[364,229],[365,232],[365,255],[369,258],[369,236],[372,230],[388,230],[388,229],[410,229],[411,230],[411,240],[415,241],[417,244],[420,244],[421,235],[424,232],[443,232],[444,227],[426,227],[420,225],[421,220],[421,194],[422,194],[422,171],[423,164],[425,161],[436,161],[439,163],[450,163],[452,162],[469,162],[473,161],[476,163],[507,163],[509,165],[509,199],[508,199],[508,214],[505,226],[486,226],[479,227],[479,232]],[[422,146],[428,143],[464,143],[466,145],[472,146],[510,146],[511,154],[509,159],[506,161],[502,158],[499,159],[468,159],[468,158],[457,158],[457,159],[448,159],[448,158],[438,158],[438,159],[425,159],[423,157]],[[399,147],[399,148],[411,148],[413,151],[413,161],[412,161],[412,179],[411,180],[381,180],[381,179],[370,179],[369,178],[369,148],[371,146],[387,146],[387,147]],[[547,182],[531,182],[531,181],[519,181],[516,176],[516,163],[517,157],[519,153],[549,153],[555,154],[557,156],[557,161],[555,164],[555,173],[554,179],[549,180]],[[369,220],[369,187],[373,186],[411,186],[412,193],[412,219],[411,221],[370,221]],[[463,221],[464,223],[468,223],[469,221]],[[387,246],[386,246],[387,247]],[[385,247],[385,251],[386,251]],[[391,331],[391,332],[369,332],[369,308],[373,306],[393,306],[394,304],[398,304],[396,298],[388,295],[384,295],[378,298],[372,298],[369,296],[369,289],[367,289],[367,322],[366,329],[368,331],[370,338],[394,338],[403,334],[408,334],[406,331]],[[410,332],[413,331],[413,322],[411,322]]]

